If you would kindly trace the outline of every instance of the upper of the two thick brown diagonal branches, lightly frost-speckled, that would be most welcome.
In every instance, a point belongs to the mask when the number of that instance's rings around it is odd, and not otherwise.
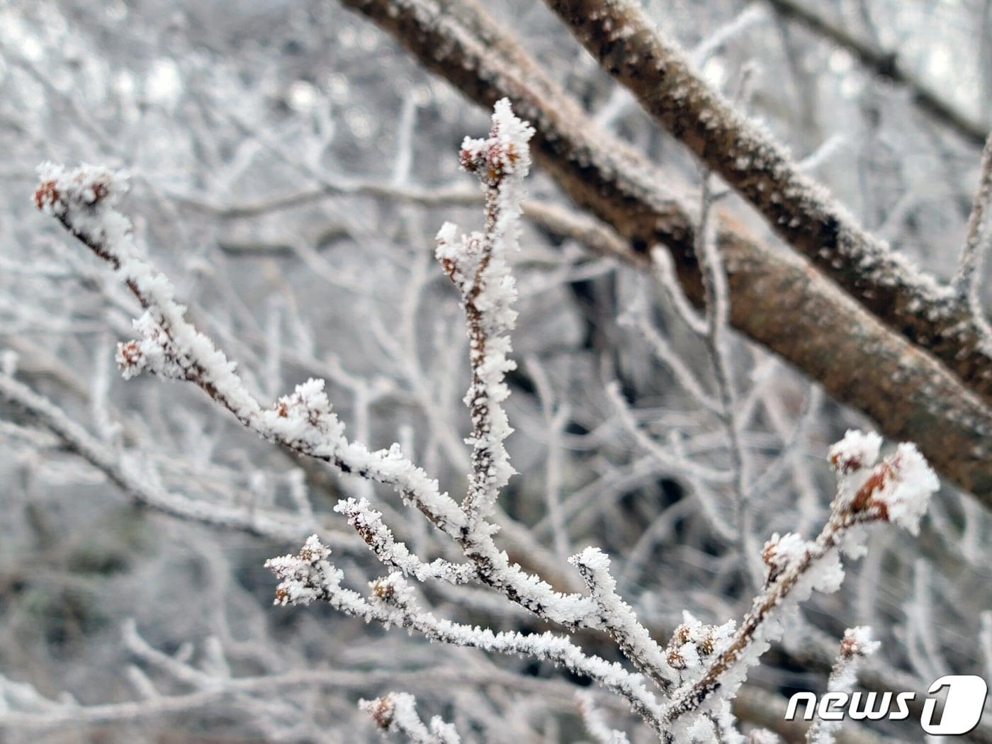
[[[917,271],[741,116],[632,2],[549,0],[579,42],[779,235],[851,297],[992,401],[990,339],[950,287]]]

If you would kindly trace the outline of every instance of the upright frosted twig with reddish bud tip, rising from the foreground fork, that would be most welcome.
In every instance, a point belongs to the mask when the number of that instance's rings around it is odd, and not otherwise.
[[[489,136],[466,137],[460,153],[461,167],[475,174],[485,193],[485,228],[459,234],[456,225],[445,222],[437,232],[436,257],[461,294],[468,325],[472,381],[465,405],[472,419],[472,472],[462,506],[473,522],[491,511],[515,472],[503,445],[513,430],[501,405],[510,394],[504,377],[517,366],[509,358],[507,335],[517,320],[517,287],[508,255],[519,248],[523,181],[531,167],[528,142],[533,135],[534,129],[514,115],[509,100],[496,103]]]

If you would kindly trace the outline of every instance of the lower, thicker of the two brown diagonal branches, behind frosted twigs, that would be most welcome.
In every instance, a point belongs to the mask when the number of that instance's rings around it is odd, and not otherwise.
[[[664,244],[686,295],[701,305],[688,210],[661,190],[665,182],[651,164],[596,128],[477,6],[459,3],[452,13],[430,2],[342,1],[470,99],[488,107],[508,96],[537,130],[541,165],[628,241],[624,260],[650,270],[650,248]],[[736,328],[867,413],[887,435],[917,441],[945,476],[992,506],[992,412],[982,401],[804,262],[763,246],[727,216],[716,226],[716,244]]]

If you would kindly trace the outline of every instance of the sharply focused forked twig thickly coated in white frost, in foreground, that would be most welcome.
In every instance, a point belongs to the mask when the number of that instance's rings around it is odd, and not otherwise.
[[[35,199],[39,208],[113,267],[145,310],[135,321],[139,338],[118,348],[125,377],[149,372],[191,382],[246,429],[321,459],[342,474],[392,487],[451,538],[465,558],[465,562],[423,560],[395,540],[383,515],[367,501],[342,500],[336,511],[390,573],[371,582],[368,596],[346,588],[342,571],[329,561],[330,549],[312,536],[299,554],[268,561],[280,579],[277,603],[324,601],[367,622],[399,625],[432,641],[547,660],[624,698],[663,741],[688,742],[703,730],[737,741],[729,701],[779,632],[779,624],[769,620],[805,600],[814,589],[834,590],[843,578],[839,552],[859,547],[863,526],[894,522],[915,533],[937,488],[936,477],[914,445],[899,445],[876,465],[881,439],[848,433],[830,451],[839,488],[819,537],[806,542],[797,535],[776,535],[765,546],[763,557],[769,566],[765,586],[738,630],[732,621],[703,626],[687,616],[664,649],[618,595],[609,559],[597,550],[586,549],[570,559],[588,594],[560,593],[511,563],[497,548],[496,528],[487,518],[513,474],[503,443],[512,430],[502,408],[509,394],[504,376],[514,368],[509,331],[516,319],[508,253],[517,243],[532,134],[509,102],[496,104],[489,137],[466,139],[461,152],[462,166],[478,177],[485,192],[484,231],[459,236],[454,225],[445,224],[437,238],[437,258],[461,294],[470,340],[472,380],[465,403],[471,415],[472,455],[468,491],[461,504],[441,492],[437,481],[410,461],[398,444],[371,451],[350,441],[331,410],[322,380],[311,379],[263,408],[235,365],[186,321],[186,308],[176,301],[171,283],[136,246],[130,223],[113,208],[125,190],[122,177],[100,168],[65,171],[46,165]],[[478,582],[567,631],[602,630],[639,673],[589,655],[553,633],[494,633],[437,618],[419,606],[408,583],[411,576],[452,584]],[[660,701],[660,694],[668,702]],[[458,741],[453,728],[440,719],[425,724],[413,698],[393,694],[367,703],[366,709],[382,727],[402,731],[415,741]]]

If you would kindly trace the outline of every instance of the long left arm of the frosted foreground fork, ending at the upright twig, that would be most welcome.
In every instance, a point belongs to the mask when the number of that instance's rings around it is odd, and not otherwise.
[[[271,410],[262,408],[236,373],[236,365],[186,321],[186,307],[176,301],[172,283],[139,250],[130,221],[113,208],[126,190],[122,175],[91,166],[66,171],[52,164],[40,167],[39,174],[38,206],[110,263],[147,309],[135,323],[140,340],[118,347],[125,377],[149,371],[192,382],[256,434],[325,459],[345,473],[391,485],[430,513],[438,527],[458,533],[464,523],[458,505],[439,492],[437,481],[410,462],[398,444],[373,452],[345,438],[322,380],[297,386]]]

